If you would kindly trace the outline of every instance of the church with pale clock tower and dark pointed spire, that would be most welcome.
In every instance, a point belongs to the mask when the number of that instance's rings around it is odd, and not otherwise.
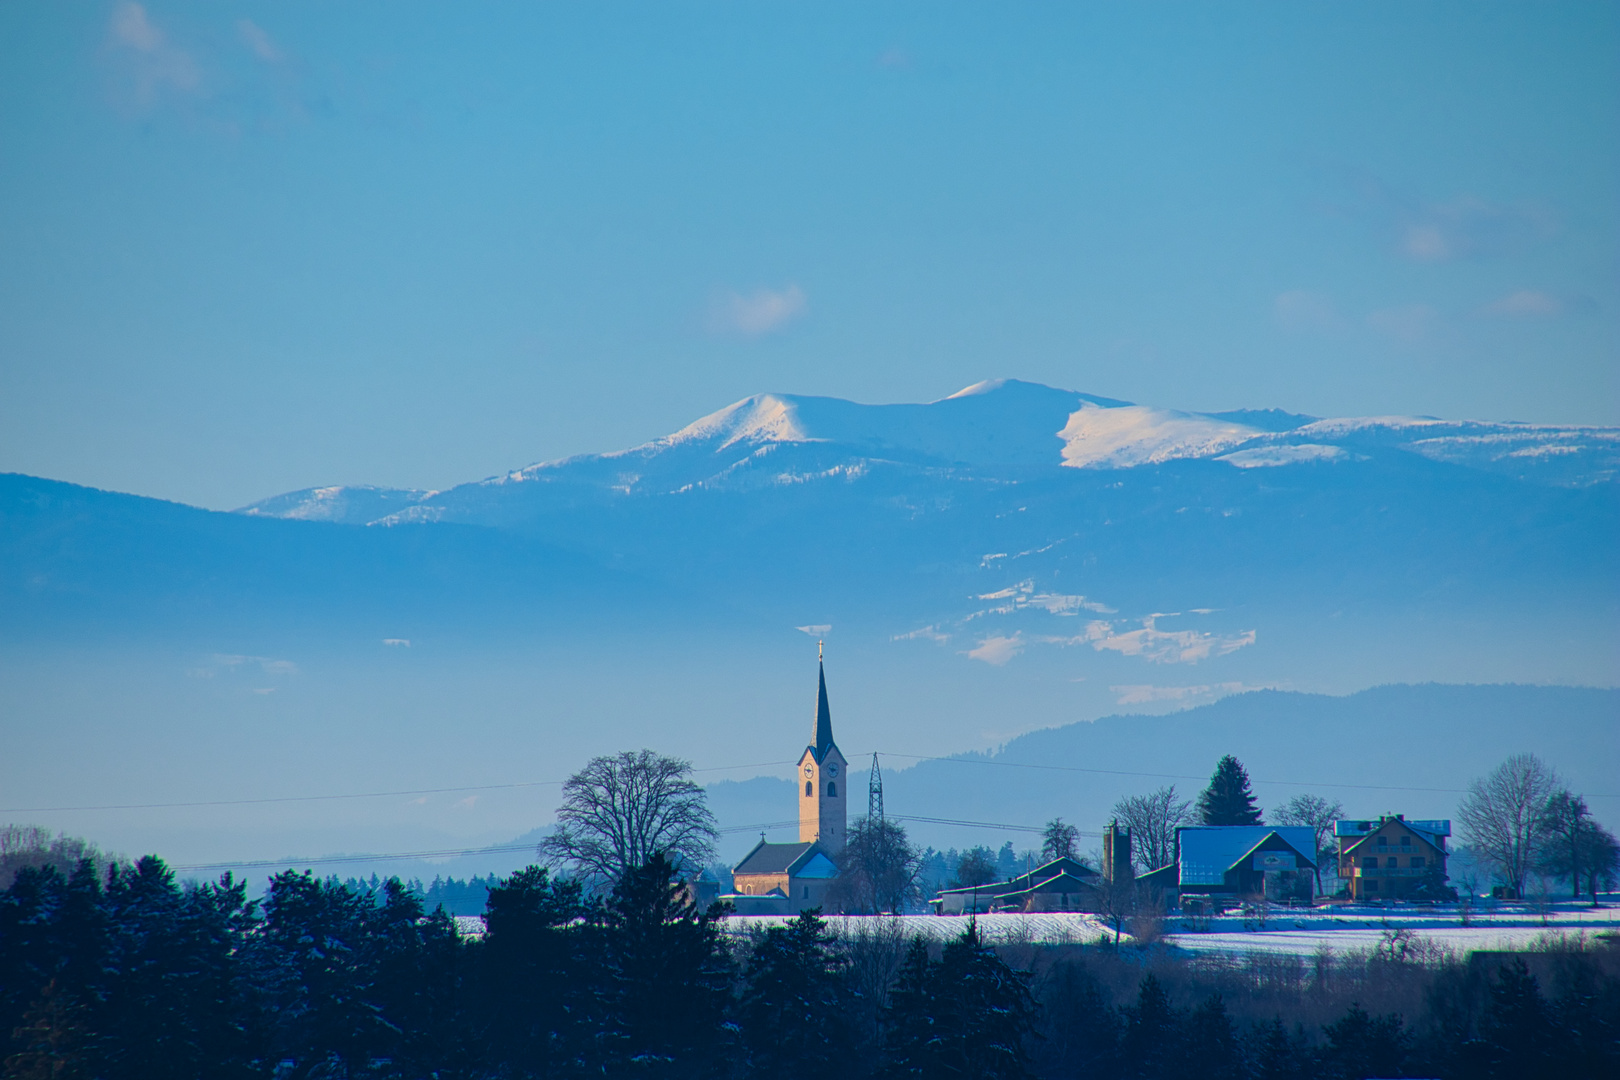
[[[849,761],[833,742],[833,711],[826,703],[826,665],[820,664],[815,704],[815,742],[799,756],[799,842],[770,844],[765,837],[732,871],[732,892],[721,897],[739,915],[794,915],[826,908],[838,879],[849,827]]]

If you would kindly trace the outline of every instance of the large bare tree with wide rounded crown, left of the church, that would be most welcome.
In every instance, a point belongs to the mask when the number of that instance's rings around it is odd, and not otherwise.
[[[680,873],[714,858],[714,814],[692,780],[692,763],[651,750],[593,758],[562,785],[557,831],[541,858],[596,887],[663,853]]]

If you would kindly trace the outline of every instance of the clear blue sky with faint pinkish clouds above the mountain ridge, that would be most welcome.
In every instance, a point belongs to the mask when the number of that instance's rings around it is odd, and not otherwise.
[[[1620,423],[1620,8],[0,6],[0,470],[447,486],[758,390]]]

